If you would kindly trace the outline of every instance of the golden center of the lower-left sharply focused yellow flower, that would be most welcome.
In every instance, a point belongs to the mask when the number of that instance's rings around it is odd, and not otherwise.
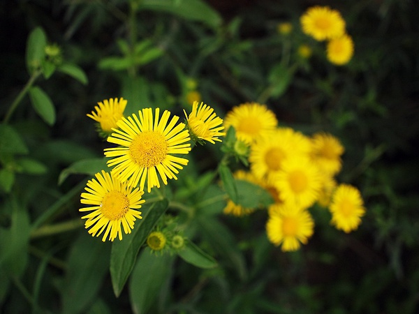
[[[121,219],[125,216],[128,209],[128,197],[117,190],[111,190],[106,193],[101,202],[101,212],[109,220]]]

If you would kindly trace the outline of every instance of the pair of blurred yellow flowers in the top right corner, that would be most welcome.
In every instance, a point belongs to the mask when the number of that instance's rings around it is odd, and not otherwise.
[[[315,40],[328,40],[327,57],[338,66],[353,56],[353,40],[346,33],[346,22],[337,10],[328,6],[313,6],[300,17],[302,31]]]

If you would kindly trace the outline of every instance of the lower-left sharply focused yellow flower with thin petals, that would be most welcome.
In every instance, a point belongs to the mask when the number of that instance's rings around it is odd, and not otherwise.
[[[141,212],[136,210],[145,200],[141,200],[143,190],[128,186],[112,174],[102,170],[96,173],[96,179],[87,182],[85,193],[82,193],[80,202],[90,205],[79,211],[91,211],[83,216],[87,219],[84,223],[89,234],[98,237],[103,231],[102,241],[109,235],[110,241],[118,236],[122,240],[122,227],[125,234],[131,233],[135,218],[142,219]]]

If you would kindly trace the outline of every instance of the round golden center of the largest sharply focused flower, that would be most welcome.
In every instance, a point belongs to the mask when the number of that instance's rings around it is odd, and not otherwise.
[[[166,158],[168,143],[163,134],[147,131],[135,137],[129,147],[129,153],[133,161],[141,167],[154,167]]]

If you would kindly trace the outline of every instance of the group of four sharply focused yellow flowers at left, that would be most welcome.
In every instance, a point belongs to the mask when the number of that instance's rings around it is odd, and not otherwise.
[[[124,117],[125,107],[123,98],[103,100],[96,112],[87,114],[98,122],[99,133],[108,134],[107,141],[116,145],[104,150],[110,173],[97,173],[81,195],[81,203],[89,205],[80,209],[89,211],[82,217],[87,219],[84,226],[92,236],[104,232],[103,241],[108,235],[110,241],[117,236],[121,240],[121,225],[126,234],[131,233],[135,218],[142,218],[138,209],[145,202],[141,200],[145,186],[149,193],[155,186],[160,188],[161,182],[177,179],[179,170],[189,162],[185,155],[191,151],[191,138],[214,143],[224,135],[223,120],[203,103],[194,103],[191,114],[185,112],[187,126],[159,108],[145,108]]]

